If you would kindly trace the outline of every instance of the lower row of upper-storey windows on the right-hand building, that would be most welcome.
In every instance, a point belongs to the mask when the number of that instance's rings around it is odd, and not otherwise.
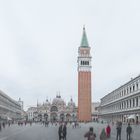
[[[124,110],[124,109],[130,109],[134,107],[138,107],[140,105],[140,96],[135,97],[132,99],[124,100],[120,103],[111,105],[109,107],[103,107],[101,111],[103,112],[114,112],[117,110]]]

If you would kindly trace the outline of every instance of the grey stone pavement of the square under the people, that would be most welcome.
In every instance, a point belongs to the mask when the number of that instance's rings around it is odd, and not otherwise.
[[[89,123],[81,124],[81,128],[67,127],[67,140],[86,140],[83,135],[90,126],[94,127],[97,135],[96,140],[99,140],[101,129],[106,127],[106,124]],[[140,126],[132,126],[134,130],[133,140],[140,140]],[[126,126],[122,128],[122,140],[126,140]],[[58,140],[58,126],[45,127],[41,124],[33,124],[32,126],[17,126],[13,125],[6,127],[0,132],[0,140]],[[116,128],[112,127],[111,138],[109,140],[116,140]]]

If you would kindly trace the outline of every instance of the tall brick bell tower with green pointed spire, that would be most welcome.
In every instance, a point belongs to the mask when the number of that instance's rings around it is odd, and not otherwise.
[[[85,27],[78,49],[78,120],[91,121],[91,55]]]

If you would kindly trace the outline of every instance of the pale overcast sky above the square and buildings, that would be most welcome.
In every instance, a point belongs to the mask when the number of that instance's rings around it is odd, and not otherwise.
[[[0,89],[28,106],[58,91],[77,103],[82,28],[92,55],[92,101],[140,74],[139,0],[1,0]]]

